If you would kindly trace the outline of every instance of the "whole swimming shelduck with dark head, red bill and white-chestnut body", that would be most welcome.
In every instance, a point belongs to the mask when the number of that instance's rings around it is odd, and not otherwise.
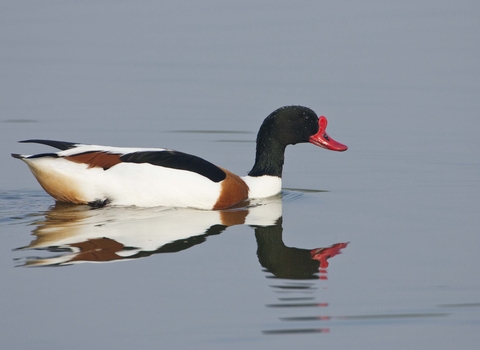
[[[326,133],[327,119],[302,106],[272,112],[257,135],[255,164],[239,177],[194,155],[165,148],[124,148],[65,141],[25,140],[60,149],[12,154],[29,166],[59,202],[101,207],[168,206],[217,210],[280,193],[285,147],[302,142],[332,151],[347,146]]]

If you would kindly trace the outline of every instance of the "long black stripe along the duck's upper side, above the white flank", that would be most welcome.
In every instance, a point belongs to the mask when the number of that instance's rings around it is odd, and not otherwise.
[[[166,168],[192,171],[213,182],[223,181],[227,176],[222,169],[205,159],[178,151],[133,152],[124,154],[120,160],[125,163],[149,163]]]

